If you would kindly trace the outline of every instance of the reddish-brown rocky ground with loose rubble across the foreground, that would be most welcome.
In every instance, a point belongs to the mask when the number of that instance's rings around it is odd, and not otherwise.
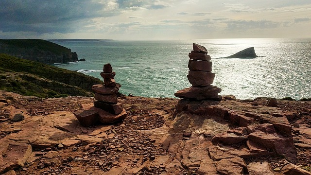
[[[124,121],[83,127],[93,100],[0,91],[0,174],[311,174],[310,101],[120,97]]]

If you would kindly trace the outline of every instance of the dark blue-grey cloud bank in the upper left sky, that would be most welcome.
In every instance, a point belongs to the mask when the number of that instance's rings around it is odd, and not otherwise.
[[[90,18],[119,14],[111,1],[0,0],[0,7],[2,32],[68,33]]]

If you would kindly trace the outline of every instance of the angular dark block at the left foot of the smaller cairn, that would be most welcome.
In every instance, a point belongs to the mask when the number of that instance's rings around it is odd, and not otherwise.
[[[94,110],[78,110],[73,112],[82,126],[88,127],[99,124],[98,112]]]

